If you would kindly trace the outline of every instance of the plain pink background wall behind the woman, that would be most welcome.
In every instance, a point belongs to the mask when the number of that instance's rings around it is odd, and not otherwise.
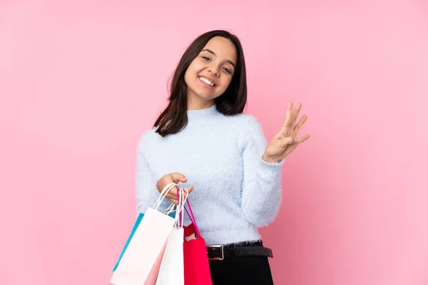
[[[1,284],[108,284],[138,137],[215,28],[268,139],[287,100],[309,116],[262,230],[276,284],[428,284],[427,1],[35,2],[0,4]]]

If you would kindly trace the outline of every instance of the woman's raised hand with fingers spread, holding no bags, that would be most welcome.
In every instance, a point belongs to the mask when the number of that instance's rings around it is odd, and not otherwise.
[[[267,145],[263,160],[266,162],[280,162],[284,157],[290,155],[300,143],[309,138],[308,134],[297,138],[297,133],[307,119],[307,115],[302,115],[299,123],[295,123],[301,108],[302,104],[297,103],[296,108],[292,110],[292,102],[288,102],[287,114],[285,115],[284,123],[282,123],[282,128]]]

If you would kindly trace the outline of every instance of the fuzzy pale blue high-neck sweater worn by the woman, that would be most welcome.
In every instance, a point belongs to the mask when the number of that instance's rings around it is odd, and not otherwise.
[[[261,239],[258,227],[272,222],[280,208],[283,160],[262,159],[267,141],[251,115],[223,115],[215,105],[187,113],[188,125],[180,133],[162,138],[153,128],[141,135],[138,212],[146,212],[159,197],[156,182],[163,175],[180,172],[188,178],[180,187],[195,187],[188,199],[207,244]]]

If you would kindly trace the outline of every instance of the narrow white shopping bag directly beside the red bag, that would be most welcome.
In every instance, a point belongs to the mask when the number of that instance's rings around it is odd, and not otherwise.
[[[161,268],[159,269],[156,285],[184,285],[184,258],[183,258],[183,207],[187,199],[188,190],[178,191],[178,206],[175,211],[175,225],[171,229]],[[180,223],[178,224],[178,221]]]

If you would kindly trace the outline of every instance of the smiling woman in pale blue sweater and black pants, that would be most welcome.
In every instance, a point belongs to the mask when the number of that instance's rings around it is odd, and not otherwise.
[[[301,105],[292,110],[288,103],[281,130],[267,143],[258,120],[243,114],[243,48],[227,31],[204,33],[190,44],[168,100],[138,142],[138,212],[146,212],[168,183],[183,183],[208,245],[213,284],[272,284],[272,254],[258,227],[280,208],[284,157],[309,138],[297,138],[307,118],[295,123]],[[166,197],[177,203],[175,192]]]

